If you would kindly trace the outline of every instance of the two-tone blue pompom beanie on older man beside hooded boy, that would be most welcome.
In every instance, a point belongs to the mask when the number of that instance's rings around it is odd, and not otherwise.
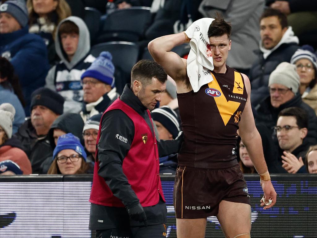
[[[111,88],[114,88],[114,65],[111,60],[111,53],[102,51],[99,57],[97,57],[90,67],[81,75],[81,80],[85,77],[91,77],[103,83],[107,83]]]

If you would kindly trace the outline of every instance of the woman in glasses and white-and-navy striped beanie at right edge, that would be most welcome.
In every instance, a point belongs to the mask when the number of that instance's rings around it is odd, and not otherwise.
[[[291,58],[300,76],[299,93],[303,102],[306,102],[317,113],[317,56],[313,47],[304,45]]]

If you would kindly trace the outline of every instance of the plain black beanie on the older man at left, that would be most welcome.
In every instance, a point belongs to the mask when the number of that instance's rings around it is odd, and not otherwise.
[[[36,89],[31,95],[30,112],[36,105],[45,106],[58,115],[63,114],[64,98],[48,88]]]

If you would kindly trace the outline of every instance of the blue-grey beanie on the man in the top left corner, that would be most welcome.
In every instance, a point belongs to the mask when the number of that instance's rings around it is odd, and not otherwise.
[[[0,13],[7,12],[25,27],[28,24],[28,9],[24,0],[8,0],[0,5]]]

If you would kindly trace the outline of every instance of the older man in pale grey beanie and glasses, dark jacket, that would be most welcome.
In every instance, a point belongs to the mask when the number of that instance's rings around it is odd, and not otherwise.
[[[280,63],[271,73],[268,81],[270,96],[256,106],[256,123],[263,123],[272,133],[277,145],[277,138],[273,131],[278,114],[289,107],[299,107],[308,114],[307,141],[316,144],[317,117],[314,110],[302,101],[298,93],[299,76],[295,65],[287,62]]]

